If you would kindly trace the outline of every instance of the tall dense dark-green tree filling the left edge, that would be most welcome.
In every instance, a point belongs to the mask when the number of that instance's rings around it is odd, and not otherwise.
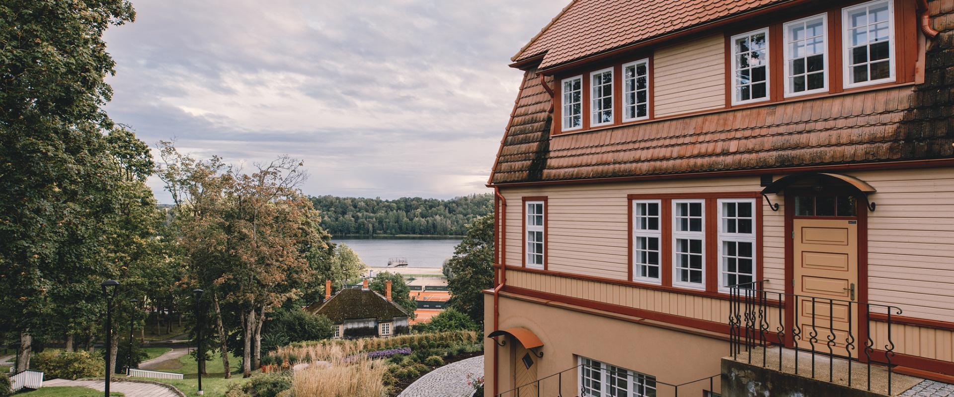
[[[18,370],[56,305],[51,291],[108,273],[100,227],[117,209],[104,138],[114,125],[101,106],[114,61],[102,34],[134,19],[122,0],[0,4],[0,324],[20,335]]]

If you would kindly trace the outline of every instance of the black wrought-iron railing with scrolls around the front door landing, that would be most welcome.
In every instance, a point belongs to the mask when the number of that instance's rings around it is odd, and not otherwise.
[[[852,363],[859,362],[866,366],[867,389],[870,391],[871,364],[877,361],[875,340],[871,335],[871,313],[884,313],[887,316],[886,341],[883,354],[878,355],[883,355],[884,364],[887,365],[887,387],[888,394],[891,394],[891,357],[895,355],[891,316],[902,314],[901,308],[768,291],[764,288],[767,281],[744,283],[729,288],[730,355],[734,360],[737,361],[739,355],[743,355],[745,360],[744,354],[748,354],[748,363],[752,364],[753,352],[756,351],[758,355],[756,347],[761,347],[761,367],[768,367],[770,348],[778,347],[778,370],[781,371],[784,361],[783,348],[787,341],[795,351],[793,360],[796,375],[799,353],[808,353],[811,356],[811,377],[815,379],[816,357],[820,355],[822,359],[828,358],[828,382],[834,382],[838,358],[839,362],[846,361],[847,386],[853,387]],[[804,302],[800,304],[800,311],[799,302]],[[809,302],[811,308],[805,308]],[[792,305],[792,324],[786,322],[786,305]],[[836,314],[841,320],[836,320]],[[858,321],[855,319],[856,315],[859,316]],[[801,324],[802,322],[805,324]],[[840,328],[835,327],[836,323],[840,323]],[[844,326],[847,329],[843,329]],[[840,332],[845,335],[843,339],[836,336]],[[858,338],[855,337],[856,333]],[[858,339],[863,339],[863,344]],[[853,351],[859,348],[863,357],[861,354],[853,354]]]

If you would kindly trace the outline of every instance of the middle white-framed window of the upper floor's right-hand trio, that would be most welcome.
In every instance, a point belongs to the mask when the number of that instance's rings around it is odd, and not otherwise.
[[[785,96],[828,90],[828,16],[819,14],[782,25],[785,37]]]

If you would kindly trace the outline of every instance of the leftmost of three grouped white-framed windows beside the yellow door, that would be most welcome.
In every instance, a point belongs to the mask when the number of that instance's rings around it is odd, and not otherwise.
[[[661,282],[660,206],[659,200],[633,200],[633,281]]]

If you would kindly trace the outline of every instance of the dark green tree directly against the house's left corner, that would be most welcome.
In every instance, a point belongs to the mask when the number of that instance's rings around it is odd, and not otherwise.
[[[451,308],[484,322],[484,289],[493,287],[493,214],[467,225],[467,234],[447,261]]]

